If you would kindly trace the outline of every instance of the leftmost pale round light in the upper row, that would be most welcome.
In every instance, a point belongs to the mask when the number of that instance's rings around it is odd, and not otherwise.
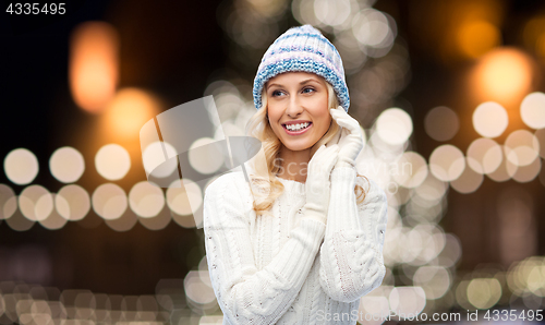
[[[14,149],[5,156],[3,170],[10,181],[17,185],[26,185],[38,174],[38,159],[28,149]]]

